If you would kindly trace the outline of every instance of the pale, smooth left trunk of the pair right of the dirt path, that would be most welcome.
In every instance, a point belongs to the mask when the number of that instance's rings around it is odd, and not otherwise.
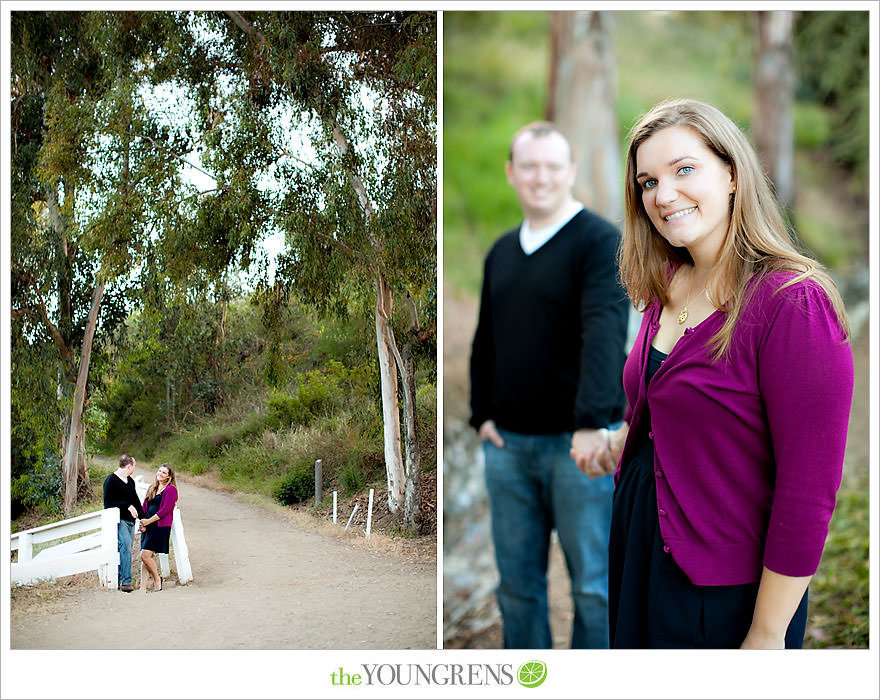
[[[388,478],[388,510],[396,513],[404,499],[406,484],[400,451],[400,410],[397,399],[396,347],[391,330],[393,297],[388,283],[376,279],[376,343],[379,350],[379,376],[382,384],[382,422],[385,438],[385,473]]]

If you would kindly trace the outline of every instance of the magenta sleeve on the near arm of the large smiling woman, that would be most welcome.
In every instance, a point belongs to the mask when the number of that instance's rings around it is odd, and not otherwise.
[[[758,348],[758,381],[776,466],[764,565],[787,576],[810,576],[819,565],[840,486],[852,350],[820,286],[800,283],[771,299]]]

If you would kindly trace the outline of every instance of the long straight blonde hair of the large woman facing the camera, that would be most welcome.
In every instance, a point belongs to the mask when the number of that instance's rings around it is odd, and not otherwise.
[[[834,306],[841,330],[848,337],[849,323],[837,286],[821,264],[797,249],[751,144],[720,110],[696,100],[661,102],[630,131],[624,184],[626,220],[618,264],[620,279],[633,305],[644,309],[655,300],[667,304],[670,268],[693,263],[686,248],[670,245],[654,228],[642,205],[641,186],[636,181],[639,146],[670,126],[693,129],[706,147],[730,168],[735,184],[730,195],[730,223],[706,288],[713,306],[727,314],[724,325],[710,341],[715,358],[723,357],[730,348],[734,328],[747,301],[748,281],[775,270],[795,274],[779,289],[804,279],[820,285]]]

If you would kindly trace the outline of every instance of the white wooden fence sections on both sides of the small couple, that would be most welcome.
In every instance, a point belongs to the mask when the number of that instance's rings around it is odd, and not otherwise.
[[[135,488],[143,500],[147,484],[143,478],[135,478]],[[192,581],[192,568],[189,563],[189,550],[183,534],[183,519],[180,509],[174,507],[174,520],[171,525],[171,546],[174,550],[174,564],[177,568],[178,583]],[[11,564],[13,583],[33,584],[45,579],[97,571],[98,580],[104,588],[116,588],[119,583],[119,552],[117,536],[119,509],[106,508],[94,513],[86,513],[76,518],[61,520],[31,530],[12,535],[11,551],[18,550],[18,561]],[[76,539],[47,547],[34,555],[34,545],[53,540],[82,535]],[[159,555],[162,576],[168,576],[170,566],[168,555]]]

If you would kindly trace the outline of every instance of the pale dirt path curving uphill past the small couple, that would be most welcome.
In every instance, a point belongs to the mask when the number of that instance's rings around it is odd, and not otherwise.
[[[340,536],[341,525],[314,531],[228,493],[179,488],[191,583],[175,585],[172,555],[160,593],[62,581],[17,594],[11,648],[436,648],[434,561],[378,536]]]

